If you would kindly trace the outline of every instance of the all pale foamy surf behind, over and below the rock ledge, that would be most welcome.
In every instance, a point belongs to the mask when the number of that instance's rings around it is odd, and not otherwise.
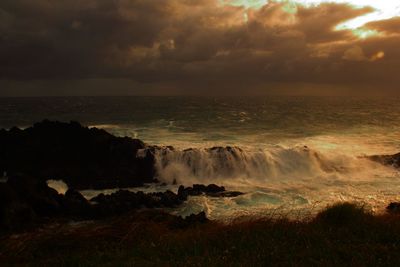
[[[242,129],[235,135],[232,129],[190,132],[174,125],[106,127],[117,135],[175,148],[155,152],[158,178],[169,183],[168,188],[130,190],[176,191],[171,186],[176,181],[186,186],[215,183],[246,193],[233,199],[192,197],[171,210],[177,215],[204,210],[218,220],[246,215],[307,217],[338,201],[361,202],[380,212],[390,201],[400,200],[399,173],[365,158],[398,152],[398,131],[361,126],[343,133],[295,137]],[[87,196],[95,193],[84,192]]]

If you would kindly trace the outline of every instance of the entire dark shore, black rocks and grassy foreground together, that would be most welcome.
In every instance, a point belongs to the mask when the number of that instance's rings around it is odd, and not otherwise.
[[[140,140],[50,121],[0,130],[0,144],[0,170],[7,177],[0,183],[2,266],[400,263],[400,203],[387,203],[386,213],[372,214],[361,204],[343,202],[304,220],[265,214],[225,223],[209,220],[204,211],[183,218],[165,210],[192,196],[222,199],[243,193],[194,184],[176,193],[120,189],[87,200],[82,188],[159,183],[151,153],[155,147],[137,157],[140,149],[149,148]],[[370,159],[398,168],[400,154]],[[126,177],[116,180],[115,174]],[[49,177],[68,177],[66,192],[50,188]]]

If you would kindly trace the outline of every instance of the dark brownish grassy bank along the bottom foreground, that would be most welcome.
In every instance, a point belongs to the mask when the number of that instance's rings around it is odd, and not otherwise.
[[[52,223],[0,239],[1,266],[399,266],[400,217],[337,204],[313,220],[185,229],[157,214]]]

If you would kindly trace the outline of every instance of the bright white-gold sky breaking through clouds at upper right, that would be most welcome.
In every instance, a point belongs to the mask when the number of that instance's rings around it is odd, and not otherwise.
[[[354,8],[372,7],[372,12],[336,26],[336,30],[352,30],[354,35],[362,39],[379,34],[377,31],[363,27],[365,24],[400,16],[400,2],[393,0],[221,0],[223,4],[256,9],[272,2],[285,3],[284,9],[288,12],[294,12],[293,7],[296,5],[315,6],[321,3],[349,4]]]

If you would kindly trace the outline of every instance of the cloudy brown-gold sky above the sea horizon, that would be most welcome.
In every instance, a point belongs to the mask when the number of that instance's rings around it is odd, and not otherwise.
[[[400,94],[400,0],[1,0],[0,96]]]

